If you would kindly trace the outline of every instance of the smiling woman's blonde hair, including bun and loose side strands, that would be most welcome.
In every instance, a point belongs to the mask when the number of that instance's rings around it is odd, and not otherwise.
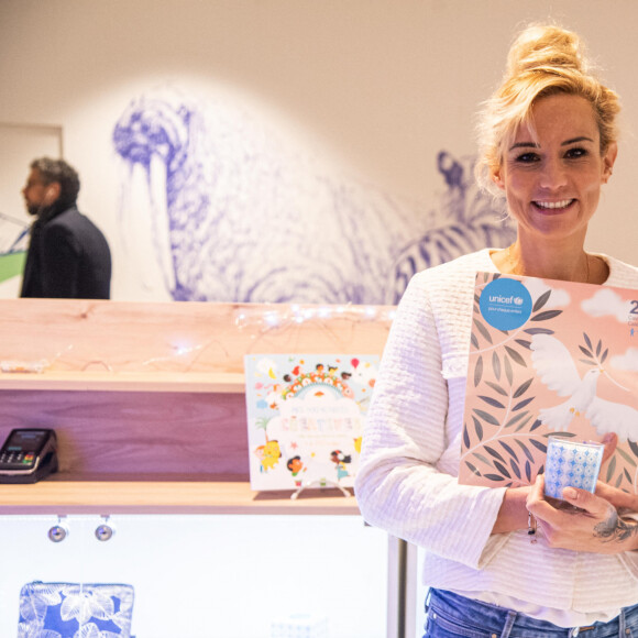
[[[592,105],[601,153],[616,142],[618,96],[592,73],[581,38],[560,26],[530,25],[514,41],[501,87],[481,113],[474,172],[482,188],[502,195],[492,175],[503,162],[504,147],[522,124],[534,132],[531,109],[537,100],[561,92],[583,97]]]

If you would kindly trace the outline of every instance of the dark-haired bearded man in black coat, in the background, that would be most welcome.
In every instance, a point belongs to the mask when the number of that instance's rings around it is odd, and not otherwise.
[[[31,163],[22,195],[31,227],[21,297],[109,299],[111,251],[100,229],[81,215],[77,172],[63,160]]]

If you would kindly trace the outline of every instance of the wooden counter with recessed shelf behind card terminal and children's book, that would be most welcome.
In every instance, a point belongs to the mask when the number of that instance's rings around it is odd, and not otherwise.
[[[0,300],[0,437],[53,428],[61,463],[55,479],[0,485],[0,513],[355,514],[355,499],[338,491],[297,501],[250,491],[243,360],[381,354],[393,314],[389,306]]]

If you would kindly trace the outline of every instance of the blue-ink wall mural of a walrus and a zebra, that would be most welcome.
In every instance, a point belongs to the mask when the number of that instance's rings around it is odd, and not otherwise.
[[[394,304],[415,272],[514,238],[473,158],[446,151],[425,206],[345,177],[243,106],[173,87],[131,101],[112,140],[127,273],[175,300]]]

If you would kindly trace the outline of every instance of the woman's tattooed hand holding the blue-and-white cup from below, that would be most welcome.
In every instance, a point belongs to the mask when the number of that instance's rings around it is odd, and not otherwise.
[[[596,494],[565,487],[563,499],[579,509],[557,509],[543,493],[540,474],[527,498],[527,509],[550,547],[595,553],[638,549],[638,522],[622,518],[627,509],[637,512],[636,496],[598,482]]]

